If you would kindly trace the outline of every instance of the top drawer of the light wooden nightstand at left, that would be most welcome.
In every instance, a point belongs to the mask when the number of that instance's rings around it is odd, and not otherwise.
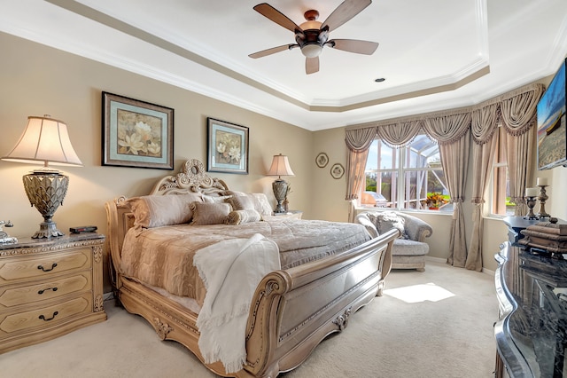
[[[0,284],[43,279],[61,272],[90,269],[91,255],[90,248],[76,248],[39,256],[7,258],[0,261]]]

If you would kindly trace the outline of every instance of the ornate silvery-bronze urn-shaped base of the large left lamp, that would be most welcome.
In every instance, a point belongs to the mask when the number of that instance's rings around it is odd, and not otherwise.
[[[67,193],[69,177],[57,170],[36,170],[23,177],[27,199],[43,216],[39,231],[32,238],[51,238],[63,236],[65,233],[57,229],[52,217]]]

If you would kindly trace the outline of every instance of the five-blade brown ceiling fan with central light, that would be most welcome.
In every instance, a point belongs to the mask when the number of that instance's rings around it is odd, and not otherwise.
[[[331,30],[335,30],[346,21],[351,20],[371,3],[372,0],[345,0],[330,13],[330,16],[324,22],[317,21],[319,12],[309,10],[304,13],[306,21],[299,26],[272,5],[258,4],[254,6],[254,10],[283,28],[291,30],[295,34],[296,43],[283,44],[268,50],[254,52],[248,56],[253,59],[262,58],[279,51],[299,47],[306,57],[305,70],[309,75],[319,71],[319,54],[321,54],[324,46],[357,54],[372,55],[378,47],[376,42],[358,39],[329,39]]]

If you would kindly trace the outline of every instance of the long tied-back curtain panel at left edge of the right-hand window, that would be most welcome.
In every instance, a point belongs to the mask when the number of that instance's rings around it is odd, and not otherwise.
[[[471,271],[482,271],[482,240],[484,224],[485,191],[488,186],[493,154],[498,143],[497,122],[498,105],[491,104],[472,112],[470,134],[472,145],[472,236],[465,268]]]

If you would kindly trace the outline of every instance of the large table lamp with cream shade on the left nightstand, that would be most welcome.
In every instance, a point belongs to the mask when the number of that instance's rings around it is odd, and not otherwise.
[[[82,166],[75,154],[67,134],[65,122],[54,120],[50,115],[27,117],[27,126],[18,143],[4,161],[37,164],[43,162],[42,169],[35,169],[24,175],[24,189],[32,206],[43,216],[39,231],[32,238],[51,238],[64,235],[53,222],[53,214],[67,193],[69,177],[62,172],[50,169],[52,165]]]

